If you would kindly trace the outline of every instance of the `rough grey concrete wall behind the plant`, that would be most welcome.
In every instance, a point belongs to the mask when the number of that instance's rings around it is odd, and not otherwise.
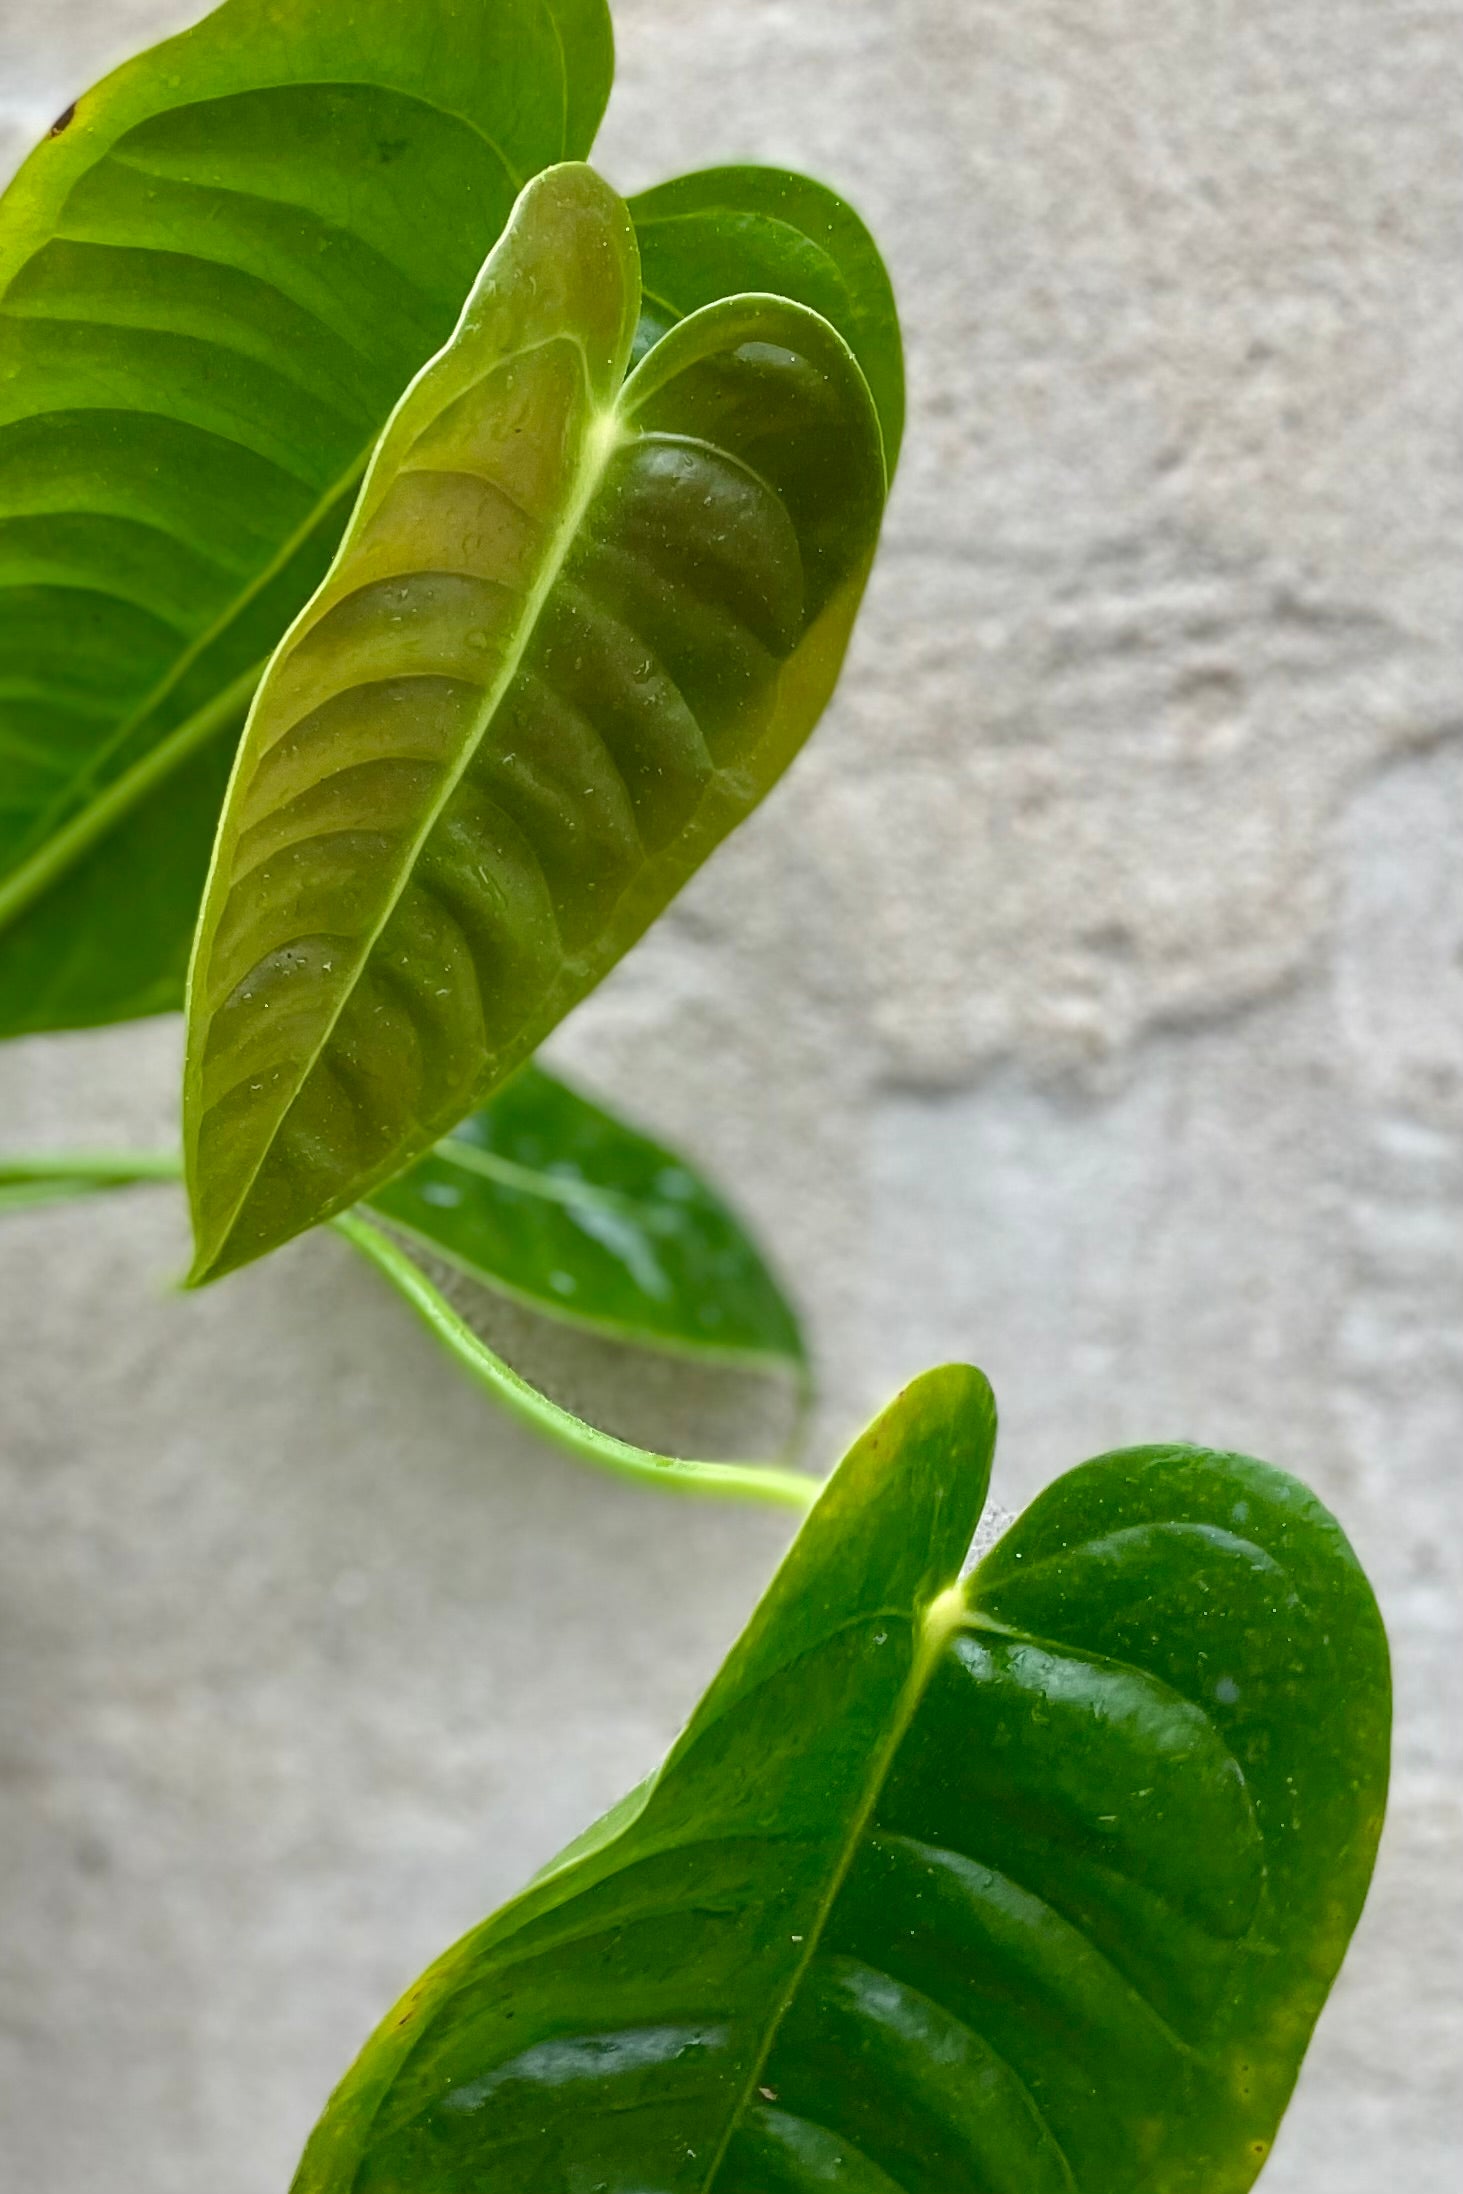
[[[0,160],[189,13],[0,0]],[[619,31],[601,165],[844,186],[912,423],[825,728],[555,1049],[761,1220],[825,1455],[959,1354],[1009,1505],[1189,1435],[1340,1512],[1395,1643],[1395,1803],[1266,2187],[1443,2194],[1463,9],[621,0]],[[0,1053],[0,1141],[162,1136],[175,1051]],[[333,1242],[189,1301],[180,1255],[165,1196],[0,1231],[29,2194],[279,2194],[364,2027],[654,1762],[783,1540],[509,1433]],[[599,1358],[555,1376],[647,1415]]]

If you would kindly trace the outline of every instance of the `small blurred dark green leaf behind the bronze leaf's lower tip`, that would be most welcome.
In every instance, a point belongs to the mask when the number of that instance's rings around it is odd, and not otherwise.
[[[592,1332],[805,1367],[798,1321],[722,1198],[542,1066],[371,1207],[469,1279]]]

